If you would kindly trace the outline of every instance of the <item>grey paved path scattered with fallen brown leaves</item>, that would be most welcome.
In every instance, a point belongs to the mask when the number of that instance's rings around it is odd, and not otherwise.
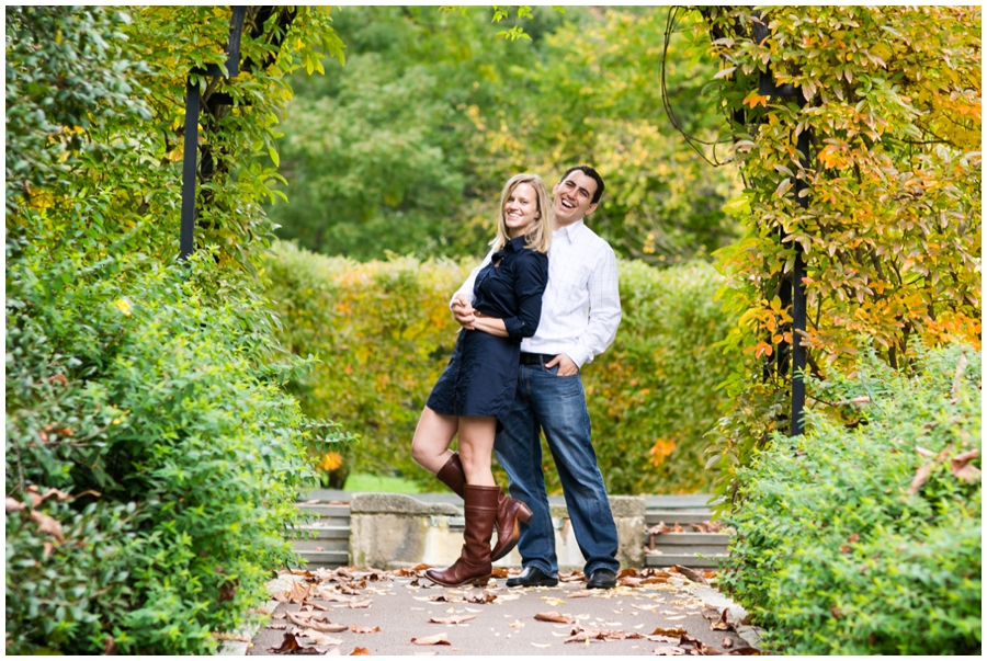
[[[556,588],[447,589],[423,568],[296,570],[271,581],[272,616],[225,654],[651,656],[757,653],[746,613],[688,569],[624,570],[612,590],[578,572]],[[514,573],[514,572],[512,572]]]

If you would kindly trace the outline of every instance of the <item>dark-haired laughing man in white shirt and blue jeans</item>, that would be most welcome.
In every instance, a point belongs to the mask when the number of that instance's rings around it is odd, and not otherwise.
[[[600,174],[588,166],[570,168],[553,194],[555,231],[542,317],[534,337],[521,342],[517,396],[494,445],[510,478],[511,495],[533,513],[518,544],[524,569],[507,584],[558,584],[555,531],[542,475],[544,431],[586,559],[587,588],[606,589],[616,584],[620,569],[616,524],[597,467],[579,368],[610,346],[621,322],[616,258],[583,223],[603,194]],[[456,321],[464,327],[475,318],[473,285],[478,271],[451,303]]]

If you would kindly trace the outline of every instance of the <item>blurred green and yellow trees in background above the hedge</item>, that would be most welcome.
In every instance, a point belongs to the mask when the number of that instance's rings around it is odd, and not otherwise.
[[[327,254],[481,254],[490,200],[518,171],[547,180],[595,166],[606,202],[590,219],[626,257],[670,263],[736,235],[726,170],[707,168],[662,110],[667,10],[542,8],[530,41],[495,38],[486,12],[347,8],[336,30],[348,65],[298,80],[281,140],[291,204],[279,235]],[[710,138],[700,100],[713,64],[680,57],[672,35],[668,101]],[[699,37],[702,38],[702,37]]]

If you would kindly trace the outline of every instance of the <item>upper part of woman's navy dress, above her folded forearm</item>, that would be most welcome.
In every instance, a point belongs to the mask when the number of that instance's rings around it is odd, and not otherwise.
[[[476,275],[474,309],[503,319],[511,340],[520,342],[538,328],[542,294],[548,283],[548,257],[525,250],[524,237],[511,239]]]

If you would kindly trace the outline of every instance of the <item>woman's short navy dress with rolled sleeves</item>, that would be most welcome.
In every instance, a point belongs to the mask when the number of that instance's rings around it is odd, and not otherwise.
[[[521,340],[534,334],[548,283],[548,257],[524,248],[524,237],[494,253],[476,276],[474,309],[503,319],[508,338],[462,330],[428,407],[446,415],[492,415],[497,430],[518,387]]]

